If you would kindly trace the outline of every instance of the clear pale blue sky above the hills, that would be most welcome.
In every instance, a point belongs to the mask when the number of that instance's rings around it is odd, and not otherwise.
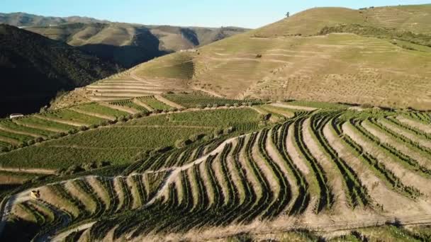
[[[43,16],[88,16],[108,21],[181,26],[258,28],[284,14],[316,6],[388,6],[427,4],[420,0],[1,0],[0,12]]]

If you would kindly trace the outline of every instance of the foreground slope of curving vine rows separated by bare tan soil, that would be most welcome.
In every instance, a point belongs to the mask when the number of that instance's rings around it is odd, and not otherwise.
[[[376,234],[429,238],[427,227],[401,225],[431,223],[430,113],[306,102],[252,108],[293,116],[144,155],[121,175],[77,174],[16,190],[3,205],[4,238],[8,228],[22,226],[32,228],[25,236],[36,241],[181,240],[196,233],[201,239],[286,233],[317,240],[340,230],[342,241]],[[172,117],[187,123],[186,116]],[[40,198],[30,198],[27,189],[39,190]],[[369,226],[381,227],[361,229]]]

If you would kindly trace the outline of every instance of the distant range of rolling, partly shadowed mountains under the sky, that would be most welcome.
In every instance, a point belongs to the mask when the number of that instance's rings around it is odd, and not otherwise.
[[[111,23],[86,17],[43,17],[28,13],[0,13],[0,23],[81,47],[97,57],[133,67],[164,54],[208,45],[247,29],[177,27]]]

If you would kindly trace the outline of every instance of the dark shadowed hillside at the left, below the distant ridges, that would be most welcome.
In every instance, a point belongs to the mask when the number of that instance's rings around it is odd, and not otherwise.
[[[57,92],[86,86],[118,69],[71,47],[10,25],[0,25],[0,116],[38,111]]]

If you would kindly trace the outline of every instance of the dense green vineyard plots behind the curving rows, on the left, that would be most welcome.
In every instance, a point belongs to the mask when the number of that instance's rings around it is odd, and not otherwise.
[[[172,149],[177,142],[180,148],[193,144],[186,147],[189,150],[213,136],[257,129],[266,119],[250,107],[258,104],[168,94],[0,120],[0,171],[42,168],[55,173],[96,162],[121,165],[148,151]]]

